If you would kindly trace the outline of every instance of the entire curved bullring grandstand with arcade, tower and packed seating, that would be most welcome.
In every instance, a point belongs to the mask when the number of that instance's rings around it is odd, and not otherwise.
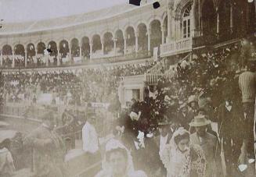
[[[256,57],[256,3],[159,2],[158,9],[153,2],[123,4],[57,19],[6,23],[0,31],[2,118],[18,119],[13,126],[17,129],[34,128],[45,108],[53,107],[59,115],[68,112],[78,122],[69,132],[77,146],[85,114],[96,109],[96,129],[104,144],[118,119],[141,116],[138,127],[128,129],[146,135],[164,115],[178,118],[194,96],[217,126],[225,91],[241,103],[238,77]],[[182,123],[189,125],[188,120]],[[70,176],[91,176],[88,171],[93,171],[76,170]]]

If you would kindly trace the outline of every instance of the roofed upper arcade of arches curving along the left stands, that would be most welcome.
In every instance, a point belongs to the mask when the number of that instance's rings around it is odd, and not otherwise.
[[[164,5],[117,5],[58,19],[7,23],[1,31],[2,66],[40,67],[148,58],[164,41]],[[44,55],[45,48],[52,53]],[[99,62],[99,61],[98,61]],[[100,60],[104,62],[104,60]]]

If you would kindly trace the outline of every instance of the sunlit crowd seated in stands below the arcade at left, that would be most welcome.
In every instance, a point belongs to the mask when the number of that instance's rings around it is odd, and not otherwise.
[[[4,73],[5,101],[39,101],[41,94],[50,94],[52,104],[82,104],[110,102],[117,95],[123,76],[146,73],[146,65],[118,65],[112,68],[61,71],[31,71]]]

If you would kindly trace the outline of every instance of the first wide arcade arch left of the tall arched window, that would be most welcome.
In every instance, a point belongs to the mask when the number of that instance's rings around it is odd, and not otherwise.
[[[160,21],[157,19],[154,19],[150,23],[150,27],[151,27],[150,51],[151,53],[153,53],[153,48],[159,47],[162,41]]]

